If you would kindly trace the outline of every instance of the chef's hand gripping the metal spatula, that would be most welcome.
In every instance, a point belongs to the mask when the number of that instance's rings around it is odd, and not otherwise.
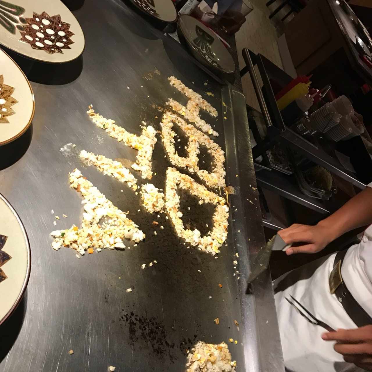
[[[286,250],[288,255],[293,253],[317,253],[334,239],[329,227],[323,227],[321,223],[315,226],[293,224],[278,231],[278,234],[287,244],[296,245]]]

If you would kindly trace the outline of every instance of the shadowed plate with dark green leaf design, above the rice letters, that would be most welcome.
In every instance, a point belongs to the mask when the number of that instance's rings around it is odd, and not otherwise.
[[[183,15],[178,19],[179,32],[186,39],[192,54],[201,63],[224,73],[235,71],[235,63],[222,41],[202,22]]]

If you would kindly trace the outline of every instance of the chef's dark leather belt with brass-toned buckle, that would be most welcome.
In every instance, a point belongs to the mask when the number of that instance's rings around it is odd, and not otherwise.
[[[346,255],[347,249],[337,252],[334,258],[333,271],[330,276],[330,289],[337,299],[340,301],[347,315],[358,326],[372,324],[372,318],[368,313],[358,304],[356,299],[347,289],[341,276],[341,265]]]

